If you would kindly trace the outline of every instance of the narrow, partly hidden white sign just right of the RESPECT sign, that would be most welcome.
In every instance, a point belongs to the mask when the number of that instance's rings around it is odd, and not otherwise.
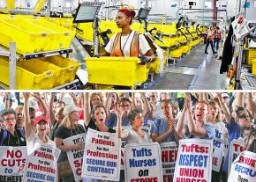
[[[223,134],[220,130],[215,128],[214,137],[214,151],[213,151],[213,171],[220,171],[222,164],[222,157],[224,155],[224,141]]]

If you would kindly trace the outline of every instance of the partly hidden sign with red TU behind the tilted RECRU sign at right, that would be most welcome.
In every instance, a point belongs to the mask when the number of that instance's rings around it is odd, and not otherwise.
[[[245,139],[238,138],[237,140],[233,140],[230,142],[230,154],[229,154],[229,176],[230,169],[233,161],[245,150]]]

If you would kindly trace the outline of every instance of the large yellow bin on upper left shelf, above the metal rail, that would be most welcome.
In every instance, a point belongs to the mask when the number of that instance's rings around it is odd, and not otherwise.
[[[9,47],[16,42],[20,54],[50,50],[49,45],[55,40],[55,33],[34,25],[24,18],[0,18],[0,44]]]

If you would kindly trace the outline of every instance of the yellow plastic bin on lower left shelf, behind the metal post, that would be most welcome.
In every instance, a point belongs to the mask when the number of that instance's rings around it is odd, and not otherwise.
[[[60,76],[60,70],[53,64],[40,60],[17,62],[16,84],[18,90],[48,90],[53,88],[55,80]],[[9,60],[0,56],[0,81],[10,85]]]

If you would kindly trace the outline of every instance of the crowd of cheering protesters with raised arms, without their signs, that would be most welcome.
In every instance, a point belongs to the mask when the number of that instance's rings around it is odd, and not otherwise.
[[[245,149],[256,152],[255,93],[0,94],[0,146],[27,146],[28,153],[41,144],[60,149],[59,181],[74,181],[66,152],[85,147],[85,143],[64,145],[63,140],[86,135],[88,128],[116,133],[126,143],[137,144],[215,140],[218,130],[226,146],[243,137]],[[151,121],[149,135],[142,127]],[[221,171],[212,171],[212,181],[227,181],[228,164],[229,156],[223,156]],[[124,181],[124,171],[120,181]]]

